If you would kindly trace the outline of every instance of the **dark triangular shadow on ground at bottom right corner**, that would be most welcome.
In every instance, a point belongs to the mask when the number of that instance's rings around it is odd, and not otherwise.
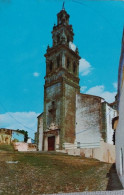
[[[109,170],[109,173],[107,173],[106,177],[109,178],[106,190],[114,191],[114,190],[122,190],[123,189],[122,184],[121,184],[119,177],[117,175],[117,172],[116,172],[115,163],[112,164],[112,166]]]

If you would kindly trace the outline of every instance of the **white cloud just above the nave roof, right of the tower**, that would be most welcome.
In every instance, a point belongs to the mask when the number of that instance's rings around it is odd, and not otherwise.
[[[107,102],[111,103],[115,101],[115,95],[117,92],[116,91],[114,92],[106,91],[104,85],[97,85],[97,86],[91,87],[85,93],[90,94],[90,95],[100,96],[104,98]]]

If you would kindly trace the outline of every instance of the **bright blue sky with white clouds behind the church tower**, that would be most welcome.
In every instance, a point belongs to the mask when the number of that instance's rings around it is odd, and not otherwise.
[[[0,0],[0,128],[34,137],[43,112],[45,57],[62,0]],[[124,26],[124,1],[65,0],[79,49],[80,87],[113,102]]]

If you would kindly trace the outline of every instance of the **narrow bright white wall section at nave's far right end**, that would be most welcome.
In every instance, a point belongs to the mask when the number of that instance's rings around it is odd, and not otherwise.
[[[117,111],[111,108],[108,104],[106,104],[106,123],[107,123],[107,140],[106,142],[109,144],[113,144],[113,133],[112,129],[112,119],[117,116]]]

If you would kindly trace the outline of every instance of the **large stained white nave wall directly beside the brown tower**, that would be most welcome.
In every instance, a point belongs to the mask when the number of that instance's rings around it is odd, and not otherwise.
[[[80,148],[100,147],[100,110],[100,98],[77,94],[76,142],[80,142]]]

